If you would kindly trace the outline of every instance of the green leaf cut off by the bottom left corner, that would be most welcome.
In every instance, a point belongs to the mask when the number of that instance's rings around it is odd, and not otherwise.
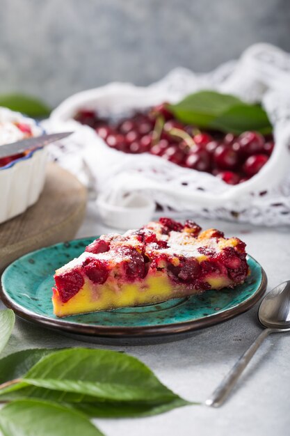
[[[4,436],[102,436],[79,412],[36,400],[17,400],[0,411]]]

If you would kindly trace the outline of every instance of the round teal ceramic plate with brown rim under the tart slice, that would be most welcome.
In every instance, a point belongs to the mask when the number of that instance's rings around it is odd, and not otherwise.
[[[56,318],[51,303],[54,271],[79,256],[93,238],[33,251],[15,260],[2,276],[1,299],[17,315],[62,333],[97,338],[166,336],[214,325],[250,309],[266,290],[266,274],[250,256],[251,274],[234,290],[210,290],[150,306]]]

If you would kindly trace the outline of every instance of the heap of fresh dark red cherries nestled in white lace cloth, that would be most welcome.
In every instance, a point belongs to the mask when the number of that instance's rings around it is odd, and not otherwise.
[[[275,145],[271,133],[223,133],[182,123],[166,102],[118,120],[99,116],[97,109],[79,109],[74,120],[94,129],[110,148],[135,155],[150,153],[187,169],[211,173],[229,185],[255,176]]]

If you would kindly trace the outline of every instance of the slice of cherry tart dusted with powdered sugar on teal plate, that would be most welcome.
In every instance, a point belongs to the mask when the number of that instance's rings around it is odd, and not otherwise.
[[[54,276],[56,316],[140,306],[233,288],[249,274],[245,244],[214,228],[152,221],[124,235],[108,234]]]

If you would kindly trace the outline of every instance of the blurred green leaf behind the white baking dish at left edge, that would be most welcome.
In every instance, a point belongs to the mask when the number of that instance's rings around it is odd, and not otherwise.
[[[8,107],[12,111],[22,112],[32,118],[48,116],[51,109],[38,98],[23,94],[0,95],[0,106]]]

